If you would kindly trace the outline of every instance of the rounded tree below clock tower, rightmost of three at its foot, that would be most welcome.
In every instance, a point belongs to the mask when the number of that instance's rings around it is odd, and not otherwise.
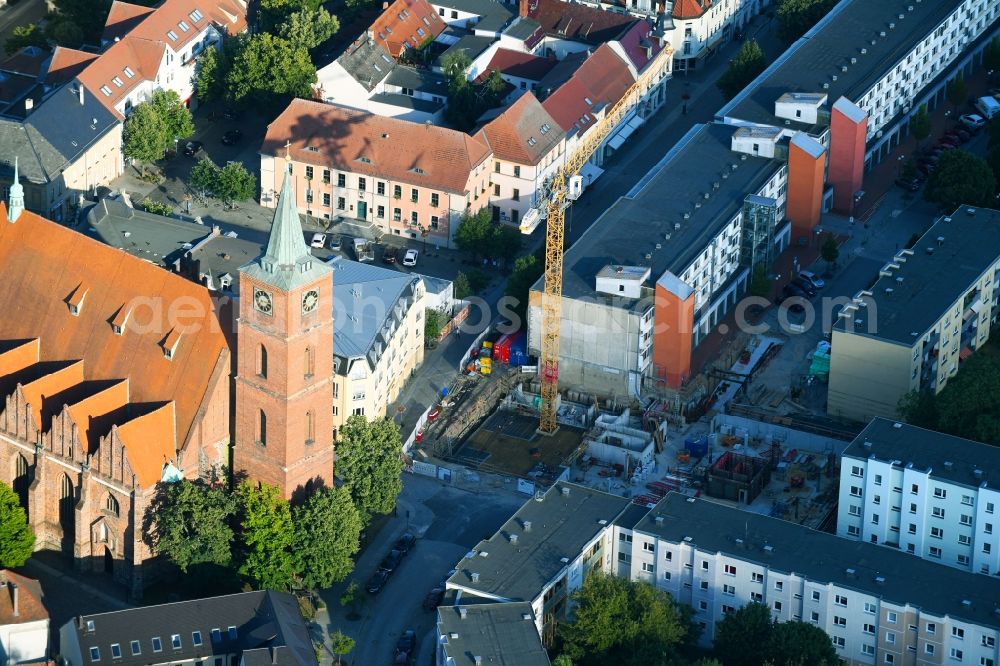
[[[295,570],[308,589],[347,577],[361,538],[361,516],[346,488],[322,488],[292,511]]]

